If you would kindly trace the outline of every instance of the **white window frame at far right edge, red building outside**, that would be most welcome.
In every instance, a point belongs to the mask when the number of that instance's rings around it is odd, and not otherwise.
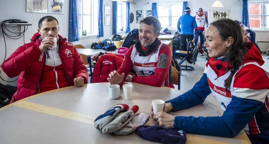
[[[249,9],[249,4],[260,4],[261,5],[261,11],[260,11],[260,15],[250,15],[248,14],[248,16],[259,16],[260,17],[260,28],[251,28],[253,30],[260,30],[260,31],[268,31],[269,27],[266,28],[266,17],[269,18],[269,14],[266,15],[266,9],[265,9],[265,5],[269,4],[269,1],[248,1],[248,9]],[[248,10],[249,11],[249,10]],[[269,23],[267,24],[269,25]]]

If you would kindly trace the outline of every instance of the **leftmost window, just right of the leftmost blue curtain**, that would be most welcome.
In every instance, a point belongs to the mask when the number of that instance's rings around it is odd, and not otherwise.
[[[80,0],[79,2],[79,34],[86,30],[87,35],[98,33],[98,3],[94,0]],[[96,23],[96,24],[95,24]],[[97,31],[96,31],[97,27]]]

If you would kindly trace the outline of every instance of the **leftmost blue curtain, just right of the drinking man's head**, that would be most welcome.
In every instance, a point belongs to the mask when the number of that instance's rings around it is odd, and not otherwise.
[[[78,0],[69,1],[69,41],[79,41],[78,33]]]

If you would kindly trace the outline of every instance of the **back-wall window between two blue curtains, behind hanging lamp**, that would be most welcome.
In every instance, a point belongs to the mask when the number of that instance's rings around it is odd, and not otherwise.
[[[171,9],[164,9],[164,5],[169,5]],[[182,16],[182,3],[157,4],[158,19],[161,22],[163,29],[177,29],[177,23],[180,16]]]

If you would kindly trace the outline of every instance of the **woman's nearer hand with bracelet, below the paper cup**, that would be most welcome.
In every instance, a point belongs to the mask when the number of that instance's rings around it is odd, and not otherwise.
[[[158,113],[155,113],[153,115],[153,120],[155,120],[155,123],[157,125],[167,128],[172,128],[173,119],[174,119],[173,115],[169,115],[164,111],[159,111]]]

